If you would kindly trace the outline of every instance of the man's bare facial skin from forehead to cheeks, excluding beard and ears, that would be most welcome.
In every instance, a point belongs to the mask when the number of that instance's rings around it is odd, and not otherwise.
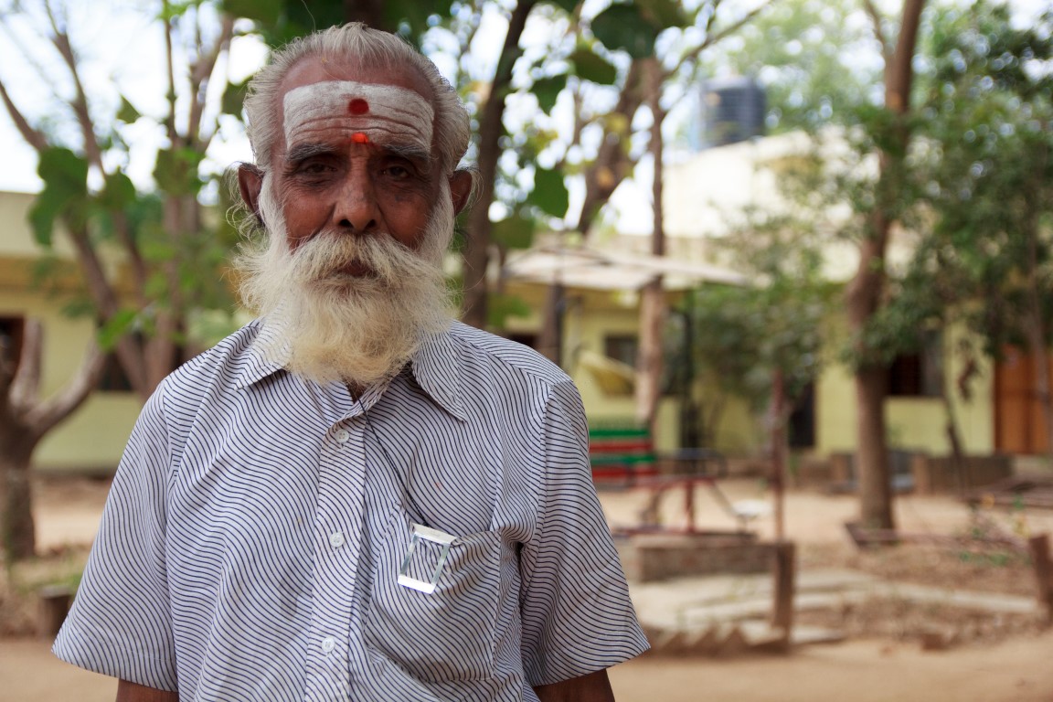
[[[311,57],[290,71],[282,137],[267,165],[291,250],[322,232],[420,247],[444,177],[433,156],[429,95],[428,82],[404,66]],[[343,273],[370,273],[350,268]]]

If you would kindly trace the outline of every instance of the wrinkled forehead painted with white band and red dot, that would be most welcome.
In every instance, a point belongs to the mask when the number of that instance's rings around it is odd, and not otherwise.
[[[420,94],[397,85],[331,80],[285,94],[285,147],[351,138],[432,152],[435,113]]]

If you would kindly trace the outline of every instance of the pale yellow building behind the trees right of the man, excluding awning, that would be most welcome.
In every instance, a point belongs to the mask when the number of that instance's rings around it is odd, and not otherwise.
[[[741,221],[741,213],[749,207],[777,208],[786,206],[779,198],[777,179],[784,165],[807,155],[814,147],[812,140],[802,134],[782,135],[739,142],[701,152],[694,157],[671,165],[665,172],[664,219],[667,227],[668,259],[676,262],[713,262],[716,255],[710,242],[726,234],[731,223]],[[836,156],[837,149],[847,153],[843,140],[829,140],[823,148]],[[872,164],[871,164],[872,165]],[[862,164],[863,167],[870,167]],[[632,209],[633,206],[627,209]],[[649,209],[650,204],[640,199],[636,209]],[[847,207],[834,207],[831,218],[848,217]],[[616,223],[617,227],[618,224]],[[603,252],[645,252],[649,248],[645,233],[620,234],[602,242],[591,244]],[[543,249],[544,246],[537,248]],[[910,255],[910,233],[895,233],[889,250],[892,265],[906,262]],[[515,259],[506,266],[513,280],[520,280]],[[827,252],[824,275],[832,281],[847,282],[855,272],[857,252],[849,243],[831,243]],[[538,279],[539,280],[539,279]],[[537,282],[537,281],[535,281]],[[517,287],[524,299],[540,304],[543,295],[520,283]],[[564,326],[563,365],[575,378],[585,401],[590,419],[609,416],[631,418],[634,414],[631,396],[617,396],[604,390],[590,373],[590,359],[594,355],[618,358],[610,353],[611,339],[624,340],[635,337],[638,314],[634,301],[638,282],[627,281],[621,290],[596,290],[571,286],[572,303],[568,306]],[[676,294],[672,292],[671,300]],[[834,321],[837,326],[838,321]],[[843,321],[839,324],[843,326]],[[524,334],[536,330],[538,319],[520,320],[512,328]],[[972,394],[963,399],[955,389],[961,372],[961,358],[954,353],[958,339],[954,333],[933,336],[925,352],[896,359],[889,370],[890,396],[886,403],[889,445],[930,455],[947,455],[950,450],[947,435],[947,409],[941,389],[949,388],[951,407],[955,415],[963,448],[968,454],[986,455],[992,452],[1037,453],[1045,446],[1045,439],[1037,430],[1037,409],[1033,393],[1020,390],[1021,383],[1010,373],[1012,368],[995,368],[981,362],[975,368]],[[830,344],[834,356],[835,343]],[[584,361],[582,359],[584,358]],[[618,360],[627,360],[624,358]],[[599,362],[603,362],[602,358]],[[1018,362],[1016,366],[1026,366]],[[630,379],[631,380],[631,379]],[[1016,393],[1016,396],[1012,396]],[[1012,396],[1012,397],[1011,397]],[[1026,396],[1026,397],[1025,397]],[[1007,414],[1011,403],[1015,407]],[[1019,406],[1017,406],[1019,405]],[[659,448],[676,447],[679,406],[675,399],[663,402],[660,434],[656,437]],[[1015,413],[1015,414],[1014,414]],[[1030,417],[1032,429],[1020,429],[1008,416]],[[794,418],[794,447],[806,454],[826,458],[831,454],[850,453],[856,445],[856,402],[851,372],[836,361],[828,362],[814,384],[810,397]],[[1026,434],[1024,438],[1016,435]],[[767,417],[751,413],[743,403],[732,402],[723,413],[716,432],[713,448],[734,456],[760,456],[767,448]]]

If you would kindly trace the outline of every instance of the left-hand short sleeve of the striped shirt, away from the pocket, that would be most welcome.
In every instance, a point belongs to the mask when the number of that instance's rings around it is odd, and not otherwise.
[[[53,650],[88,670],[175,690],[164,558],[170,457],[162,384],[124,449],[84,576]]]

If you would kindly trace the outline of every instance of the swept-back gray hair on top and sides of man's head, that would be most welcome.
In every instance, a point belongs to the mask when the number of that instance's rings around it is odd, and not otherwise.
[[[442,173],[452,174],[468,151],[471,127],[468,111],[456,91],[430,59],[400,37],[361,22],[334,26],[293,40],[271,55],[271,62],[249,83],[245,113],[249,141],[256,163],[267,168],[278,138],[278,92],[289,71],[306,57],[330,60],[354,58],[365,67],[412,66],[432,85],[435,109],[434,147]]]

